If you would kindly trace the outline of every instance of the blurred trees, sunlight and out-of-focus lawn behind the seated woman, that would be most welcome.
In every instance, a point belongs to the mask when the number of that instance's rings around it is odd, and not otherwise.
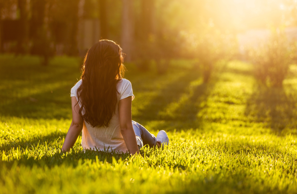
[[[296,0],[0,0],[0,37],[4,120],[71,119],[83,58],[110,39],[149,130],[297,134]]]

